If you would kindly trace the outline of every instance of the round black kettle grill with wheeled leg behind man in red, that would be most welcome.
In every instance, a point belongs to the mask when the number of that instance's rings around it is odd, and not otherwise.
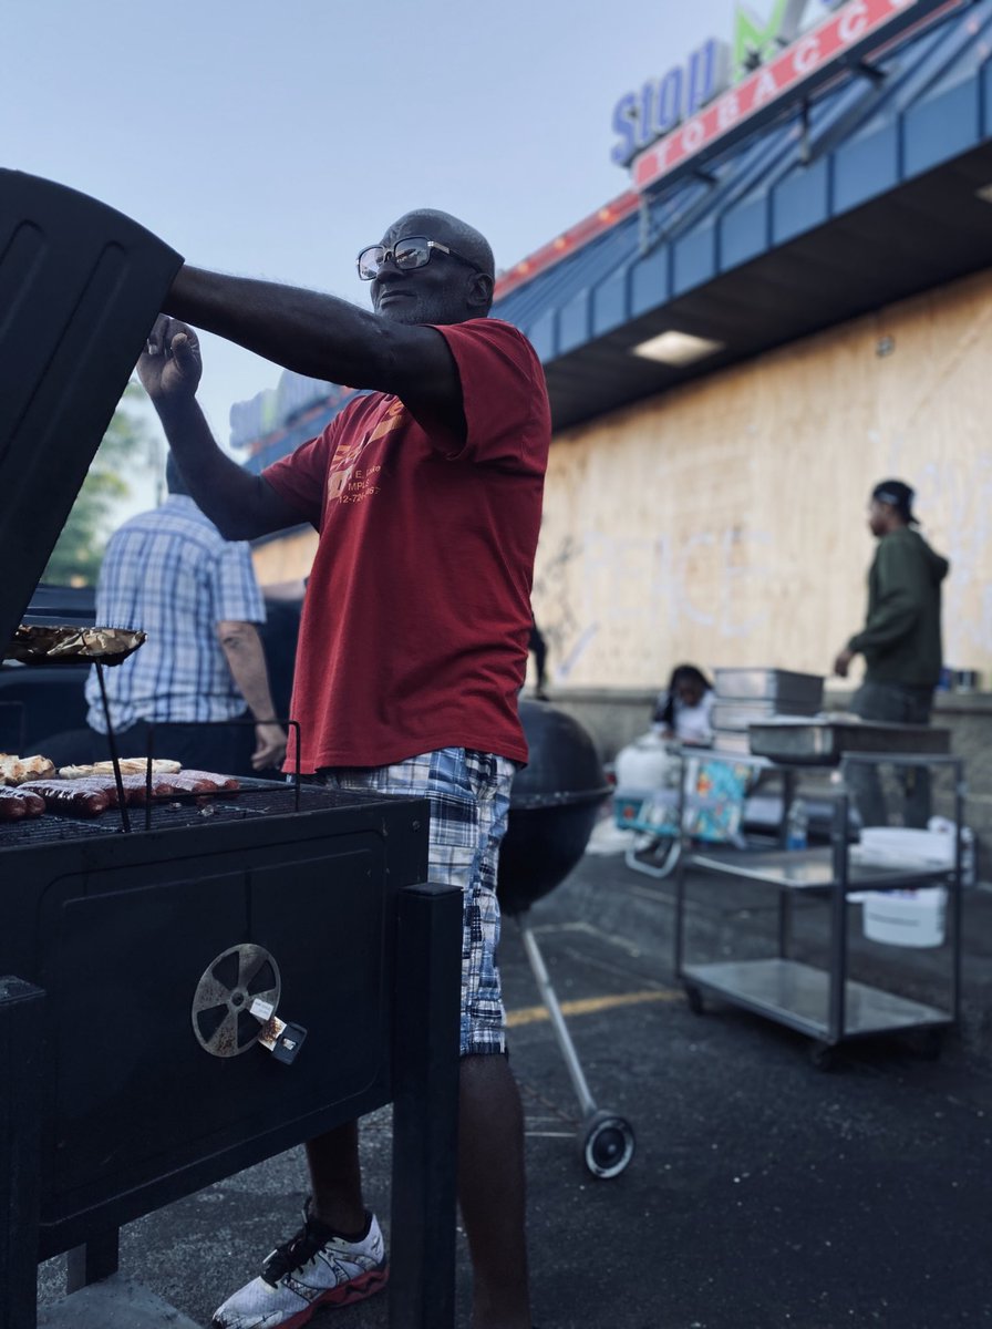
[[[564,881],[582,859],[610,788],[592,739],[578,720],[554,706],[529,700],[521,700],[521,720],[530,762],[518,772],[510,795],[510,821],[499,853],[499,904],[521,929],[530,968],[579,1098],[583,1162],[594,1176],[618,1176],[633,1158],[633,1130],[623,1116],[596,1107],[527,922],[534,901]]]

